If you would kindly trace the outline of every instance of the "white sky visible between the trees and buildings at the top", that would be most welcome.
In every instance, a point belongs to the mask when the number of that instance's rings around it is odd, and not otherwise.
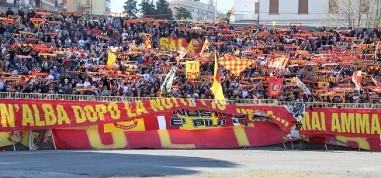
[[[168,2],[171,2],[172,0],[168,0]],[[121,13],[124,9],[124,0],[111,0],[111,12]],[[138,4],[140,4],[141,0],[137,0]],[[156,2],[156,0],[153,0],[153,2]],[[207,3],[208,0],[201,0],[202,3]],[[233,6],[233,0],[217,0],[217,10],[226,13],[230,8]],[[139,9],[139,7],[138,7]]]

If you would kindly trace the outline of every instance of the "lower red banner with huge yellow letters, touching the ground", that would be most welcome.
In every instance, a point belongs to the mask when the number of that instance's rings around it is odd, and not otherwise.
[[[273,145],[286,142],[271,122],[204,130],[146,130],[105,133],[103,126],[54,129],[57,149],[206,149]],[[271,137],[264,137],[271,136]]]

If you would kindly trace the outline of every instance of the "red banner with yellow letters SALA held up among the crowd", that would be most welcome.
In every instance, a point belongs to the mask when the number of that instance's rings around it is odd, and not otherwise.
[[[188,50],[188,54],[198,54],[201,53],[203,47],[202,39],[192,39],[188,43],[186,38],[171,38],[162,37],[160,38],[160,48],[162,50],[169,51],[180,51],[181,47]]]

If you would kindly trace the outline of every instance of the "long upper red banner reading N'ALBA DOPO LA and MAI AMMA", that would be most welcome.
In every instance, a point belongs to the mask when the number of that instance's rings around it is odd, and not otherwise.
[[[293,115],[284,107],[221,105],[191,99],[157,99],[135,103],[88,101],[73,103],[58,100],[3,99],[0,103],[0,131],[65,128],[107,123],[117,123],[116,127],[124,129],[135,128],[144,123],[144,127],[138,127],[139,129],[144,128],[143,130],[197,129],[197,127],[210,128],[216,127],[216,125],[223,127],[241,123],[234,121],[230,115],[233,115],[234,118],[242,116],[241,119],[246,119],[244,121],[246,123],[250,122],[251,116],[259,111],[266,113],[284,132],[290,132],[295,122]],[[215,113],[223,113],[230,117],[220,118],[219,115],[223,114],[218,114],[217,117]],[[213,116],[214,119],[195,119],[196,116],[202,114],[208,117]],[[162,121],[160,116],[163,116]],[[141,120],[142,118],[144,119]],[[174,120],[174,118],[180,119]],[[130,122],[123,123],[125,121]],[[303,124],[301,133],[306,136],[326,134],[378,138],[381,133],[380,121],[381,110],[336,108],[313,108],[311,110],[307,107],[301,121]],[[173,123],[181,125],[183,122],[187,124],[173,127],[176,125]],[[137,126],[131,126],[133,124]],[[190,125],[193,125],[194,128]]]

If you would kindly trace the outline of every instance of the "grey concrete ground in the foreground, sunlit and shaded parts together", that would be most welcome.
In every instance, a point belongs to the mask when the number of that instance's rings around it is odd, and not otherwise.
[[[7,151],[0,177],[381,177],[380,161],[357,151]]]

